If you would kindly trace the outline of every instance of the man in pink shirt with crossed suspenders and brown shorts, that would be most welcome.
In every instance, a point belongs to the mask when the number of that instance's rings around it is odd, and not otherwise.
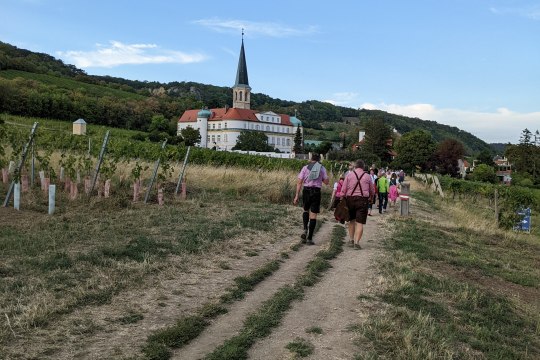
[[[356,160],[354,167],[354,171],[345,176],[339,196],[346,197],[349,208],[349,239],[355,249],[360,249],[373,187],[371,177],[364,171],[364,161]]]

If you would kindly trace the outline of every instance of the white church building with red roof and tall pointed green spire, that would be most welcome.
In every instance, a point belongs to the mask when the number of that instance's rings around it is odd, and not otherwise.
[[[251,110],[243,37],[232,95],[232,108],[185,111],[178,120],[178,134],[191,126],[200,131],[200,147],[232,150],[241,131],[260,131],[268,137],[271,147],[283,153],[292,152],[296,128],[300,127],[302,131],[302,122],[296,116]]]

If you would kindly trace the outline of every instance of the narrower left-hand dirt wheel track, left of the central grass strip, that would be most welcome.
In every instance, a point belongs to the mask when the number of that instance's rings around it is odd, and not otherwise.
[[[212,352],[225,340],[238,334],[246,317],[286,284],[293,284],[306,264],[330,240],[334,223],[326,222],[315,234],[315,246],[302,246],[298,252],[292,252],[271,278],[259,284],[254,291],[229,308],[229,312],[217,318],[199,337],[186,347],[175,351],[173,359],[200,359]]]

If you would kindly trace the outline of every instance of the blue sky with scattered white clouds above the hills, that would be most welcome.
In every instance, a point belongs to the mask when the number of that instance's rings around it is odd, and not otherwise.
[[[540,129],[540,1],[0,0],[1,41],[127,79],[232,86],[241,28],[253,92]]]

